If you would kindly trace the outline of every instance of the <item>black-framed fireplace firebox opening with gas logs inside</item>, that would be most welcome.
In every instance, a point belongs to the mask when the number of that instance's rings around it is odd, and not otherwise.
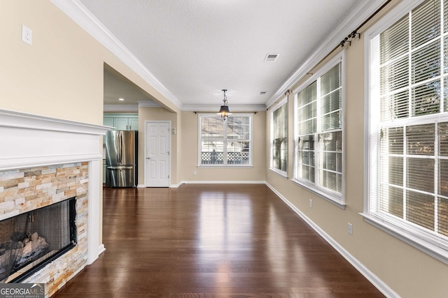
[[[76,243],[76,198],[0,221],[0,282],[25,280]]]

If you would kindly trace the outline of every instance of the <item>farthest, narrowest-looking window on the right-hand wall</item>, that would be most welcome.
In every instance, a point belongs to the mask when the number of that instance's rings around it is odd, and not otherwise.
[[[281,103],[271,112],[271,168],[286,176],[288,166],[288,101]]]

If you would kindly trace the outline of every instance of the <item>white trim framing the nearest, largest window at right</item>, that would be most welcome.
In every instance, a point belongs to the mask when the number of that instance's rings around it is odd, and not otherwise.
[[[370,190],[372,184],[375,184],[375,181],[377,181],[377,176],[372,177],[372,172],[370,171],[370,164],[372,162],[370,156],[379,152],[377,147],[378,142],[371,140],[375,136],[371,135],[370,129],[370,112],[372,112],[370,110],[370,98],[374,97],[370,89],[370,40],[400,20],[401,17],[416,8],[416,6],[419,6],[423,1],[403,1],[365,32],[364,208],[363,213],[360,215],[364,217],[367,223],[374,225],[448,265],[448,251],[436,245],[433,237],[430,237],[431,234],[429,232],[416,225],[412,225],[412,223],[402,223],[402,221],[394,220],[392,216],[383,217],[379,213],[372,214],[370,212]],[[413,120],[411,119],[410,121]]]

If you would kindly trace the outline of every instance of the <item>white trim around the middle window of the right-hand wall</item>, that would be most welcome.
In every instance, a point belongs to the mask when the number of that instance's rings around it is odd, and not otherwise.
[[[345,50],[342,50],[339,52],[335,57],[330,59],[323,67],[321,67],[316,73],[314,73],[311,77],[309,77],[308,80],[306,80],[304,83],[300,84],[299,87],[293,90],[294,94],[294,156],[293,156],[293,163],[294,163],[294,174],[293,174],[293,181],[295,184],[302,186],[303,188],[306,188],[308,191],[311,191],[312,193],[320,196],[321,198],[328,200],[328,202],[331,202],[332,204],[335,204],[337,207],[345,209],[346,202],[345,202]],[[317,80],[318,77],[321,77],[321,75],[325,74],[330,70],[331,68],[335,67],[337,64],[341,62],[341,80],[342,80],[342,192],[335,193],[332,191],[329,191],[325,188],[321,188],[317,186],[314,183],[311,183],[309,181],[306,181],[304,179],[299,179],[297,177],[297,94],[309,86],[312,82]]]

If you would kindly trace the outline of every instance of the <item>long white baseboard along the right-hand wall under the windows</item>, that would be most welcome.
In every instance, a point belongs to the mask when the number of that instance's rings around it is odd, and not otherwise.
[[[291,202],[289,202],[285,197],[283,197],[283,195],[281,195],[281,193],[276,191],[276,189],[274,187],[272,187],[268,183],[266,183],[266,185],[272,191],[274,191],[274,193],[276,195],[278,195],[279,198],[281,198],[281,200],[283,200],[283,202],[288,204],[290,209],[293,209],[293,211],[295,211],[295,213],[298,216],[300,216],[309,226],[311,226],[311,228],[313,228],[313,230],[315,230],[319,235],[321,235],[321,237],[323,237],[323,239],[325,239],[325,241],[327,241],[328,244],[330,244],[333,248],[335,248],[335,250],[340,255],[342,255],[342,257],[344,257],[347,261],[349,261],[349,263],[353,267],[355,267],[355,269],[358,270],[360,272],[360,274],[363,274],[363,276],[365,278],[367,278],[367,280],[370,281],[370,283],[372,283],[375,286],[375,288],[377,288],[380,292],[382,292],[386,297],[391,297],[391,298],[395,298],[395,297],[399,298],[400,297],[400,295],[398,295],[398,293],[393,291],[386,283],[384,283],[384,281],[381,281],[381,279],[378,276],[376,276],[372,271],[367,269],[367,267],[365,267],[363,265],[363,263],[359,262],[356,258],[354,258],[353,255],[351,255],[348,251],[346,251],[346,249],[344,247],[342,247],[340,244],[338,244],[337,241],[335,241],[335,239],[332,239],[332,237],[330,237],[330,235],[328,235],[325,231],[323,231],[321,228],[319,228],[318,225],[316,225],[316,223],[311,221],[311,219],[309,219],[309,217],[307,217],[305,214],[302,213],[302,211],[297,209],[297,207],[295,207]]]

